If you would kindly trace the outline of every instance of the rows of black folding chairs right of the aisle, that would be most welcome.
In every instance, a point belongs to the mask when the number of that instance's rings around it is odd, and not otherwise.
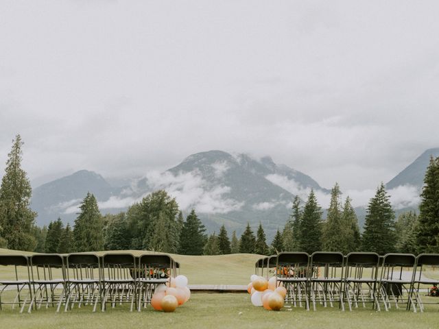
[[[439,279],[423,276],[425,267],[438,266],[439,254],[386,254],[352,252],[346,256],[338,252],[283,252],[261,258],[255,264],[257,275],[276,273],[278,284],[287,288],[285,302],[294,306],[312,304],[324,307],[345,303],[349,310],[366,307],[424,311],[421,289],[436,286]],[[436,304],[436,303],[435,303]]]

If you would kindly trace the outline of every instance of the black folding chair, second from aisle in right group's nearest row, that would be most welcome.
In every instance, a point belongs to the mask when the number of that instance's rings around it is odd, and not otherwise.
[[[344,256],[340,252],[314,252],[310,263],[310,300],[316,310],[316,302],[333,307],[334,302],[344,310],[343,281]]]

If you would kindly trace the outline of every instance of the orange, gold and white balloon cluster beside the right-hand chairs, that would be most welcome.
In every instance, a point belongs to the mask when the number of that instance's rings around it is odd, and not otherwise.
[[[283,308],[287,289],[276,287],[276,278],[267,280],[261,276],[253,274],[250,277],[247,291],[250,293],[251,301],[254,306],[263,306],[265,310],[280,310]]]

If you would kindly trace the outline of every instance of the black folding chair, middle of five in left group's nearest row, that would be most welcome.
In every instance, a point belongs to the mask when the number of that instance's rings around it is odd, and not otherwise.
[[[95,254],[69,254],[66,263],[67,301],[64,311],[78,304],[93,305],[96,311],[97,303],[101,302],[101,269],[99,257]]]

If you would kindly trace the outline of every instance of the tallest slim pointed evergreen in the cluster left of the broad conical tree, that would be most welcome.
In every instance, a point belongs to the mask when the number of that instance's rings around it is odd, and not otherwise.
[[[340,186],[335,183],[331,190],[331,203],[329,204],[327,221],[324,223],[323,230],[323,249],[327,252],[339,252],[346,239],[346,230],[351,230],[351,226],[342,226],[342,202],[340,197],[342,192]]]

